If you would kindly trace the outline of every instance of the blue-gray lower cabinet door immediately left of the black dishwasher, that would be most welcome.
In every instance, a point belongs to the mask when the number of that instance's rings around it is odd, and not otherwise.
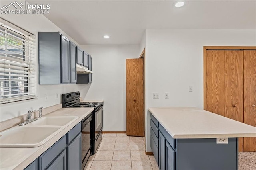
[[[68,170],[81,170],[82,168],[82,135],[77,137],[68,145]]]

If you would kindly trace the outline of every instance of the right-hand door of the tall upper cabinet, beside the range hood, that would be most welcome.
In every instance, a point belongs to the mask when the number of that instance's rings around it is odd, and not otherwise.
[[[76,44],[70,41],[70,83],[76,83]]]

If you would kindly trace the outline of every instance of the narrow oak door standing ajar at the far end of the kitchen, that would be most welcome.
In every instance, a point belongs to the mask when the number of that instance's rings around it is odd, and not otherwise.
[[[144,59],[126,59],[126,134],[144,137]]]

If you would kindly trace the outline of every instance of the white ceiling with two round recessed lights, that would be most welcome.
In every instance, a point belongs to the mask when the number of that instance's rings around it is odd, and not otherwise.
[[[138,45],[145,29],[256,29],[255,0],[28,0],[80,45]],[[110,39],[104,39],[109,35]]]

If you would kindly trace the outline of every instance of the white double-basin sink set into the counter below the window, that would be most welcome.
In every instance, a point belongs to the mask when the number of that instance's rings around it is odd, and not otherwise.
[[[74,122],[77,116],[42,117],[0,132],[0,147],[38,147]]]

